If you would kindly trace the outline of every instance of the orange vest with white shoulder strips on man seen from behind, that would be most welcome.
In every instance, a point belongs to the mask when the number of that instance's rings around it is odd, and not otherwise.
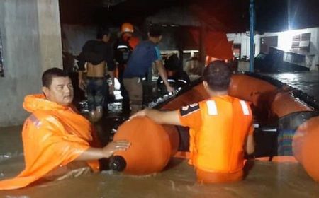
[[[208,172],[235,173],[244,166],[245,139],[252,127],[250,106],[228,95],[199,103],[202,125],[190,131],[191,161]]]

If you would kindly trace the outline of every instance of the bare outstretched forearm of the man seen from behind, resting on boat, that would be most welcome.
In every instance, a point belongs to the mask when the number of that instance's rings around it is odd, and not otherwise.
[[[138,116],[147,116],[150,119],[154,120],[158,124],[173,124],[173,125],[181,125],[179,121],[179,112],[178,110],[168,110],[168,111],[161,111],[161,110],[152,110],[152,109],[145,109],[137,112],[130,118],[138,117]]]

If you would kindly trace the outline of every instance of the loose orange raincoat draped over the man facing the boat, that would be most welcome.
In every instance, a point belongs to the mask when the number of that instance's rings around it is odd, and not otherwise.
[[[39,180],[74,161],[93,142],[90,122],[71,107],[39,94],[27,95],[23,108],[32,113],[22,131],[26,168],[15,178],[0,181],[0,190],[25,187]]]

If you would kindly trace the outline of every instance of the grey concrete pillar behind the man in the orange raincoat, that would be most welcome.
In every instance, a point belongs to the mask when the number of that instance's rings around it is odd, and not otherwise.
[[[58,0],[2,0],[0,28],[5,75],[0,78],[0,127],[5,127],[28,116],[23,98],[40,92],[43,70],[62,68]]]

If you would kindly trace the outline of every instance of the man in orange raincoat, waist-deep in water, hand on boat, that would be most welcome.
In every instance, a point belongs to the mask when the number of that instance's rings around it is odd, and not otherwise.
[[[26,187],[37,180],[62,180],[99,170],[98,159],[126,150],[128,141],[113,141],[103,148],[89,120],[72,108],[73,87],[58,68],[43,73],[43,94],[27,95],[23,107],[31,113],[23,125],[26,168],[16,177],[0,181],[0,190]]]

